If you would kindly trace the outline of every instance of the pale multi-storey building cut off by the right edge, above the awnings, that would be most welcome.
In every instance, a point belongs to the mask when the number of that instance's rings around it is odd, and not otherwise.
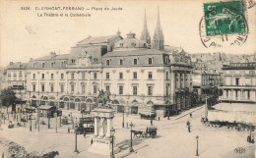
[[[224,66],[224,102],[256,102],[256,63],[230,63]]]

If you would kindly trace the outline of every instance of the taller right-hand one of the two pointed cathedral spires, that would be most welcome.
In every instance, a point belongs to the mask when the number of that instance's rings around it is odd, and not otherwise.
[[[164,39],[162,34],[162,29],[160,27],[160,10],[158,8],[158,21],[157,27],[155,28],[154,39],[152,41],[152,49],[164,49]]]

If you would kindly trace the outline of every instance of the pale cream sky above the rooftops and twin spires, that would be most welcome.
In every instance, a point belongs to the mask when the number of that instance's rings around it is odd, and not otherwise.
[[[216,1],[216,0],[214,0]],[[157,26],[158,7],[164,43],[181,46],[188,53],[256,52],[256,7],[246,10],[249,33],[242,46],[206,48],[199,35],[204,16],[203,3],[209,1],[0,1],[0,66],[10,62],[28,62],[55,51],[67,54],[71,47],[89,35],[112,35],[119,29],[125,38],[133,31],[140,38],[146,9],[151,37]],[[30,7],[30,10],[22,10]],[[35,7],[84,7],[84,11],[35,10]],[[92,8],[122,8],[99,11]],[[90,9],[87,11],[86,9]],[[38,17],[40,14],[69,14],[69,17]],[[70,17],[70,13],[89,13],[91,17]]]

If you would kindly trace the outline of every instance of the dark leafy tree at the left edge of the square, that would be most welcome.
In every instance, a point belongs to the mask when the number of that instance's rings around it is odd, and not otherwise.
[[[0,94],[0,99],[2,102],[2,106],[5,106],[7,108],[7,113],[10,105],[12,105],[12,111],[14,111],[16,96],[12,88],[9,87],[9,88],[2,89]]]

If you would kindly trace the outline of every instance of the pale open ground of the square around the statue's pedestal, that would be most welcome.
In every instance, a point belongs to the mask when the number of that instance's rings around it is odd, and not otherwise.
[[[192,113],[192,118],[190,118],[190,113]],[[69,114],[71,114],[70,111],[63,111],[63,115],[69,116]],[[81,117],[81,114],[73,111],[72,116]],[[185,111],[178,116],[172,116],[170,120],[167,118],[160,118],[160,121],[154,120],[153,124],[158,128],[157,136],[155,138],[134,137],[133,148],[135,152],[130,153],[130,129],[122,128],[122,114],[116,114],[113,120],[113,127],[116,129],[115,144],[121,151],[115,157],[197,157],[197,135],[199,136],[199,157],[254,157],[254,146],[246,141],[249,132],[237,132],[226,129],[226,127],[206,127],[201,123],[203,116],[204,108],[201,106]],[[10,115],[9,117],[11,119],[13,116]],[[70,133],[67,130],[69,127],[72,129],[72,125],[62,125],[60,128],[58,119],[56,133],[56,120],[54,118],[50,120],[50,129],[47,126],[47,119],[44,118],[44,120],[46,125],[40,125],[39,132],[38,127],[35,129],[34,120],[32,120],[32,132],[30,132],[30,121],[26,123],[26,127],[22,123],[23,127],[15,127],[14,129],[8,129],[8,122],[6,121],[1,126],[0,139],[14,141],[24,146],[29,152],[58,151],[59,156],[57,157],[61,158],[106,157],[88,151],[94,136],[93,133],[87,134],[86,137],[83,134],[78,135],[78,150],[80,152],[77,154],[74,152],[75,134],[72,130]],[[125,125],[132,122],[135,125],[133,129],[138,131],[146,131],[146,128],[151,126],[150,120],[141,120],[139,116],[125,116],[124,120]],[[187,130],[187,121],[191,123],[191,132]],[[75,119],[74,123],[76,124]],[[0,152],[6,152],[6,147],[1,145]],[[245,148],[245,153],[235,153],[234,149],[237,147]]]

